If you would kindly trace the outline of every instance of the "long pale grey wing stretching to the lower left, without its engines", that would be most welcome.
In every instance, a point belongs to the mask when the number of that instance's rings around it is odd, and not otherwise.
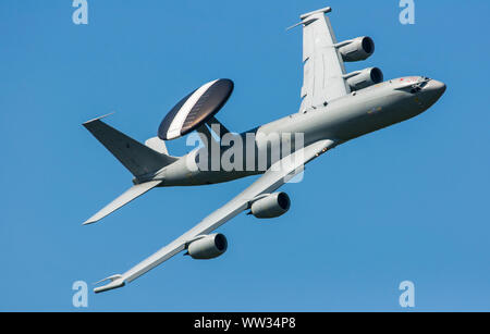
[[[282,160],[273,164],[264,175],[261,175],[243,193],[205,218],[194,228],[189,230],[174,242],[164,246],[136,267],[126,271],[124,274],[113,275],[98,282],[101,283],[105,281],[111,281],[107,285],[96,287],[94,292],[101,293],[124,286],[126,283],[130,283],[140,275],[147,273],[151,269],[186,249],[187,246],[200,235],[205,235],[215,231],[242,211],[247,210],[258,196],[270,194],[277,190],[292,177],[303,172],[304,164],[319,157],[321,153],[324,153],[334,146],[335,141],[333,140],[320,140],[301,150],[297,150],[295,153],[289,157],[283,158]]]

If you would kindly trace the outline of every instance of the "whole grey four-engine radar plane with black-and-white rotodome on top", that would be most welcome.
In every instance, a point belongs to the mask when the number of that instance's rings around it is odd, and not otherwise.
[[[133,187],[84,224],[99,221],[155,187],[207,185],[260,174],[248,188],[174,242],[125,273],[98,282],[109,281],[96,287],[96,293],[124,286],[179,252],[185,251],[194,259],[221,256],[228,242],[215,230],[244,211],[260,219],[284,214],[290,198],[277,190],[302,173],[306,163],[343,143],[422,113],[444,94],[443,83],[426,76],[383,82],[377,67],[346,73],[344,62],[368,59],[375,44],[369,37],[338,42],[326,16],[329,12],[331,9],[326,8],[303,14],[293,26],[303,26],[304,39],[304,83],[297,113],[243,134],[231,133],[216,114],[234,85],[230,79],[217,79],[182,99],[161,122],[158,136],[145,145],[100,117],[84,124],[134,175]],[[198,134],[204,145],[183,157],[170,156],[164,141],[191,133]],[[296,140],[298,134],[301,140]],[[226,136],[229,144],[242,143],[240,149],[223,145]],[[272,145],[271,137],[278,138],[279,145]],[[238,157],[240,152],[243,157]],[[222,158],[231,156],[229,161],[234,168],[225,168]]]

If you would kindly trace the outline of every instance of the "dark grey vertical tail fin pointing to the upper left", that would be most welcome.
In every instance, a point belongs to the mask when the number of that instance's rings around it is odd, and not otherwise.
[[[177,159],[160,153],[99,119],[83,124],[134,176],[156,172]]]

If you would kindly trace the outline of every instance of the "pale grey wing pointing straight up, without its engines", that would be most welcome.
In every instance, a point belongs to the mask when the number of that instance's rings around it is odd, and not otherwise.
[[[324,15],[329,12],[331,8],[299,16],[302,21],[297,25],[303,25],[304,62],[299,112],[327,106],[329,101],[351,92],[330,18]]]

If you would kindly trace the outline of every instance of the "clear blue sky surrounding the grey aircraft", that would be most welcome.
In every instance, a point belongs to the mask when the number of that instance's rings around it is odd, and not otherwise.
[[[156,189],[98,225],[82,222],[131,186],[131,174],[81,124],[107,122],[138,140],[173,104],[229,77],[220,120],[241,132],[296,112],[301,13],[332,5],[340,40],[371,36],[385,78],[427,75],[445,96],[417,119],[348,143],[286,185],[272,222],[238,215],[229,251],[177,256],[124,288],[89,294],[88,311],[490,310],[488,1],[0,2],[0,310],[63,310],[75,281],[122,273],[253,180]],[[457,10],[455,10],[457,9]],[[185,141],[169,145],[184,153]]]

